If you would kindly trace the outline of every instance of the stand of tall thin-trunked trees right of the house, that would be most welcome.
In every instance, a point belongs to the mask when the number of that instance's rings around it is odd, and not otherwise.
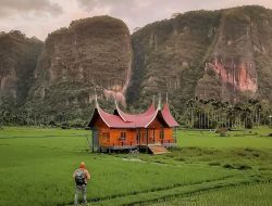
[[[231,104],[222,100],[202,100],[197,96],[186,102],[184,124],[188,128],[250,129],[271,124],[272,106],[268,101],[247,100]]]

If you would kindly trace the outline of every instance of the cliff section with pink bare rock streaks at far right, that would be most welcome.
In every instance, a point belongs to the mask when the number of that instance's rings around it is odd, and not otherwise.
[[[213,51],[207,59],[206,75],[197,85],[198,96],[220,96],[234,102],[243,95],[260,96],[258,72],[263,68],[256,65],[259,64],[258,55],[269,56],[271,53],[269,34],[272,22],[268,14],[261,8],[236,8],[222,12]],[[207,82],[209,69],[215,73],[213,80],[220,81],[215,87]],[[210,93],[211,90],[217,91],[215,95]]]

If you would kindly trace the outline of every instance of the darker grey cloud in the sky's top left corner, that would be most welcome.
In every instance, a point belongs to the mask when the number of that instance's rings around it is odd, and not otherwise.
[[[1,17],[9,17],[17,14],[58,16],[62,12],[61,5],[49,0],[0,0]]]

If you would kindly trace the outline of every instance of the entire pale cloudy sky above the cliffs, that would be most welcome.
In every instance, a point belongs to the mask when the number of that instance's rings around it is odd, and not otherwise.
[[[249,4],[272,9],[272,0],[0,0],[0,31],[21,30],[45,40],[74,20],[110,15],[124,21],[133,33],[174,13]]]

